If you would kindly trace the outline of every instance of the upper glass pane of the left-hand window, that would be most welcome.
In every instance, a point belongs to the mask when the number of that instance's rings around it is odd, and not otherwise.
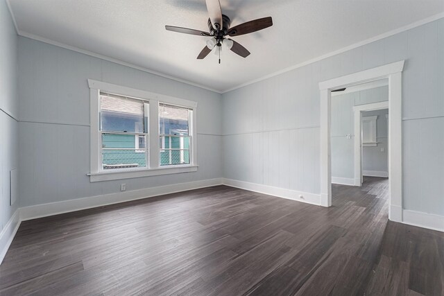
[[[102,94],[100,119],[105,132],[144,132],[144,103]]]

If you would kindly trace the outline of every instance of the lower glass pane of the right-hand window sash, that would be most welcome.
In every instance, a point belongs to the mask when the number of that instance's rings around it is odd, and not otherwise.
[[[190,137],[160,137],[160,165],[189,164]],[[163,144],[163,146],[162,146]]]

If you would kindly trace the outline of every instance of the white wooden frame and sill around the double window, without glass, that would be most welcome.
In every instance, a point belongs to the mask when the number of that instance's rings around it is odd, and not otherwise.
[[[88,79],[89,85],[89,102],[90,102],[90,182],[100,182],[109,180],[122,180],[134,177],[149,177],[154,175],[169,175],[174,173],[189,173],[195,172],[198,168],[197,162],[197,102],[189,101],[182,98],[175,98],[172,96],[165,96],[163,94],[155,94],[153,92],[146,92],[141,89],[133,89],[131,87],[123,87],[121,85],[114,85],[107,82]],[[119,169],[112,171],[103,171],[101,169],[101,139],[100,139],[100,93],[119,94],[121,96],[128,96],[133,98],[140,98],[148,101],[148,139],[146,145],[148,146],[148,153],[146,167],[144,168],[130,168]],[[189,134],[191,137],[190,143],[190,163],[178,164],[171,166],[160,166],[160,141],[159,139],[159,103],[167,103],[171,105],[178,105],[187,107],[192,110],[192,119],[189,122]]]

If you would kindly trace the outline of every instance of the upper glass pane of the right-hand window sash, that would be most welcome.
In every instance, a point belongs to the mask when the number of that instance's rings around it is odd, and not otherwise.
[[[159,133],[188,135],[187,108],[159,104]]]

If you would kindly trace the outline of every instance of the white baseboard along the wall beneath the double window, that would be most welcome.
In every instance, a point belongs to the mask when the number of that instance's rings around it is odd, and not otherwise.
[[[31,207],[22,207],[20,209],[20,218],[22,221],[46,216],[53,216],[71,211],[80,211],[82,209],[90,209],[94,207],[103,207],[109,204],[118,204],[120,202],[129,202],[131,200],[140,200],[143,198],[151,198],[157,195],[176,193],[181,191],[199,189],[209,186],[221,185],[222,179],[201,180],[180,184],[172,184],[166,186],[157,186],[146,189],[133,191],[124,191],[110,193],[105,195],[97,195],[89,198],[77,198],[75,200],[65,200],[62,202],[51,202],[48,204],[37,204]]]

